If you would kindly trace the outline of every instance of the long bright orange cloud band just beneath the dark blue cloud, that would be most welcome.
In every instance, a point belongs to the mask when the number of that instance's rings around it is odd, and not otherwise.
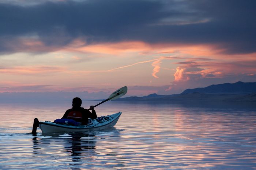
[[[76,39],[64,47],[67,51],[86,53],[101,53],[117,55],[127,52],[138,52],[140,55],[184,54],[194,56],[210,56],[219,54],[214,45],[202,44],[173,44],[155,43],[149,44],[143,41],[121,41],[117,43],[86,44],[85,41]]]

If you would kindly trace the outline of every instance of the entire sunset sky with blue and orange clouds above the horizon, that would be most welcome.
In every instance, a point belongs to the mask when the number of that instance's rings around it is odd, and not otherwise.
[[[0,93],[168,95],[256,82],[255,9],[255,0],[0,0]]]

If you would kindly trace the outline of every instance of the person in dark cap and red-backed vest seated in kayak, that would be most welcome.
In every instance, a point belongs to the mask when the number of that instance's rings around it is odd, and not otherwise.
[[[82,100],[78,97],[74,98],[72,100],[72,108],[68,109],[61,119],[73,119],[76,122],[81,122],[83,125],[86,125],[88,124],[88,118],[97,118],[94,106],[90,106],[90,108],[87,110],[81,107],[81,105]]]

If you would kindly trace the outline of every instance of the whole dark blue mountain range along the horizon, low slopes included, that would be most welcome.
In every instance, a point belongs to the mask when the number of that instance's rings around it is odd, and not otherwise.
[[[184,90],[181,94],[150,94],[143,97],[120,98],[118,101],[250,101],[256,102],[256,82],[224,83]]]

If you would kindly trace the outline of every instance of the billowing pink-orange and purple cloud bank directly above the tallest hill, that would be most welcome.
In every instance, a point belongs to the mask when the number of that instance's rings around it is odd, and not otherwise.
[[[187,88],[206,87],[211,84],[255,82],[256,60],[241,58],[240,61],[185,59],[177,62],[174,81],[166,88],[167,93],[180,93]]]

